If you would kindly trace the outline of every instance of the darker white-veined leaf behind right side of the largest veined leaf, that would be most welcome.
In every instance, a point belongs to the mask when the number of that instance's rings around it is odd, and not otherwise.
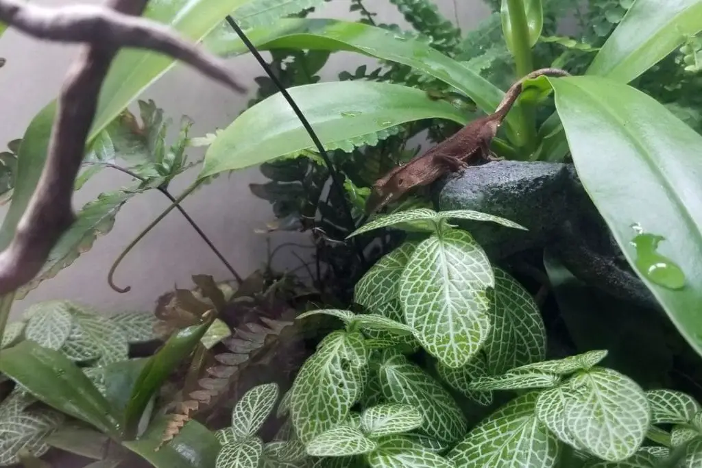
[[[511,368],[541,361],[546,354],[546,330],[536,302],[503,269],[494,268],[492,332],[485,344],[489,373],[499,375]]]

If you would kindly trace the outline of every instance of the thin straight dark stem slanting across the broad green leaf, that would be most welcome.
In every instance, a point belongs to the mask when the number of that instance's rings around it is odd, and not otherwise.
[[[336,169],[334,168],[333,164],[331,163],[331,159],[329,159],[329,154],[326,153],[326,150],[324,149],[324,146],[322,146],[322,142],[319,141],[319,138],[317,137],[317,133],[314,133],[314,130],[312,130],[312,126],[310,125],[310,122],[307,121],[305,118],[305,115],[303,112],[300,110],[300,107],[296,104],[295,100],[291,97],[290,93],[285,89],[283,86],[283,83],[280,82],[277,76],[272,72],[268,64],[263,60],[263,57],[258,53],[258,50],[256,49],[255,46],[249,41],[249,37],[244,34],[244,31],[241,30],[239,25],[237,25],[237,22],[234,21],[234,18],[232,18],[230,15],[227,15],[227,23],[234,29],[234,32],[236,32],[239,35],[239,38],[241,38],[241,41],[244,42],[246,47],[249,48],[249,51],[251,52],[251,55],[253,55],[254,58],[258,61],[258,64],[265,70],[266,74],[270,77],[271,81],[273,81],[273,84],[278,88],[278,91],[283,95],[283,98],[288,102],[290,107],[293,109],[293,112],[295,112],[295,115],[298,117],[300,120],[300,123],[303,124],[303,127],[305,127],[305,131],[310,135],[310,138],[312,138],[312,142],[314,142],[314,146],[317,147],[317,151],[319,152],[319,155],[322,156],[322,159],[324,159],[324,163],[326,164],[326,167],[329,169],[329,175],[331,175],[331,185],[333,185],[334,189],[338,192],[338,195],[340,196],[340,199],[343,201],[343,210],[344,210],[344,215],[346,218],[346,222],[348,224],[348,229],[350,229],[350,232],[355,231],[356,229],[356,223],[353,220],[353,215],[351,214],[351,209],[349,208],[348,204],[346,203],[346,194],[344,192],[344,187],[341,181],[339,180],[339,175],[336,172]],[[356,248],[356,253],[359,257],[359,260],[361,260],[361,265],[366,267],[366,257],[363,254],[363,248],[361,244],[359,243],[359,240],[357,238],[353,238],[352,240],[355,248]]]

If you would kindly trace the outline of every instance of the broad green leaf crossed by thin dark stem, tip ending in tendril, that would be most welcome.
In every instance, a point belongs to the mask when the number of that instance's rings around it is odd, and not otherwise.
[[[465,116],[449,102],[432,101],[422,91],[371,81],[317,83],[290,88],[323,145],[420,119]],[[256,138],[251,138],[251,133]],[[199,178],[270,161],[313,147],[310,135],[282,95],[246,109],[208,147]]]

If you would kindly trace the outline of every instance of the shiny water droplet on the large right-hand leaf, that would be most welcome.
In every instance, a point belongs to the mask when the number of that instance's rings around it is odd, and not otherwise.
[[[640,225],[632,225],[637,235],[630,241],[636,248],[635,265],[647,279],[668,289],[681,289],[685,286],[685,275],[673,260],[656,252],[658,243],[665,237],[644,233]]]

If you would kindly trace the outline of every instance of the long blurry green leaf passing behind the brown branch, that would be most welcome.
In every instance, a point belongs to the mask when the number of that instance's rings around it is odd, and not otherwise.
[[[150,2],[145,17],[162,22],[191,41],[199,41],[227,13],[246,0],[173,0]],[[98,109],[88,140],[93,140],[132,100],[175,64],[173,59],[141,49],[123,50],[110,65],[100,88]],[[32,119],[20,146],[13,199],[0,228],[0,250],[15,234],[29,198],[44,168],[56,103],[51,102]],[[89,142],[89,141],[88,141]]]

